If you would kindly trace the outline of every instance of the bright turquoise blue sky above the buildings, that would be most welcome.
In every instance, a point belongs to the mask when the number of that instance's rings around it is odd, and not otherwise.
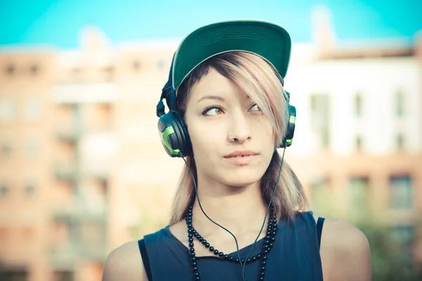
[[[217,20],[262,18],[286,27],[293,42],[311,40],[312,8],[330,8],[338,39],[414,38],[422,0],[0,0],[0,45],[77,48],[82,27],[100,28],[112,44],[182,38]]]

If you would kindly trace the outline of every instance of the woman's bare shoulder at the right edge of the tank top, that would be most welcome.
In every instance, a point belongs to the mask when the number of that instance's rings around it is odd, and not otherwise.
[[[326,218],[320,253],[324,280],[371,280],[369,242],[351,223]]]

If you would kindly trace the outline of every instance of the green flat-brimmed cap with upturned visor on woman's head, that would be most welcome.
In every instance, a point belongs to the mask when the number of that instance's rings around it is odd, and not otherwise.
[[[288,32],[264,20],[226,20],[205,25],[186,36],[173,58],[173,89],[200,63],[219,53],[248,51],[260,55],[286,77],[291,39]]]

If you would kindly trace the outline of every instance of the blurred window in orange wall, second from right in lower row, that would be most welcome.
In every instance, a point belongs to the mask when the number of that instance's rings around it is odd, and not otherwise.
[[[350,178],[350,199],[354,209],[366,209],[369,207],[369,178],[354,177]]]

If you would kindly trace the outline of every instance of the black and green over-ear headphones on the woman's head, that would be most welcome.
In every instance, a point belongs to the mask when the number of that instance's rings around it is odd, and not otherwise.
[[[165,151],[171,157],[192,156],[192,143],[189,137],[188,128],[181,114],[177,110],[176,93],[173,89],[173,62],[170,66],[169,79],[162,89],[160,101],[157,105],[158,131],[160,133],[161,143]],[[284,86],[283,79],[281,84]],[[286,135],[278,148],[286,148],[292,144],[295,133],[296,107],[290,105],[290,93],[287,93],[287,104],[289,118],[287,120]],[[165,98],[169,112],[165,113],[165,106],[162,99]]]

